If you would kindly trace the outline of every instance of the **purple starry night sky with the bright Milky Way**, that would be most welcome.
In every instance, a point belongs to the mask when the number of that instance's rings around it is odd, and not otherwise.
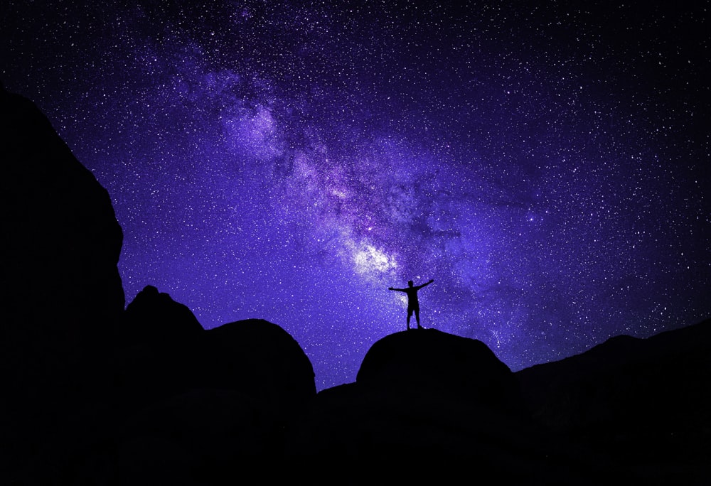
[[[513,370],[709,317],[710,2],[452,4],[10,0],[0,76],[109,191],[127,301],[276,323],[319,389],[410,279]]]

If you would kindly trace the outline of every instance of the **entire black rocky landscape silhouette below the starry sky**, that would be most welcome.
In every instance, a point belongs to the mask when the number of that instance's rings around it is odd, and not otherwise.
[[[0,484],[711,483],[711,321],[517,373],[403,331],[316,394],[278,325],[204,330],[154,286],[124,311],[106,191],[31,102],[0,108]]]

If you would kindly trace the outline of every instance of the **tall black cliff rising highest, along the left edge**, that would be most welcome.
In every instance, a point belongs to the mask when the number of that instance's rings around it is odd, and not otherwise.
[[[124,293],[106,190],[28,99],[0,88],[0,468],[94,387]]]

